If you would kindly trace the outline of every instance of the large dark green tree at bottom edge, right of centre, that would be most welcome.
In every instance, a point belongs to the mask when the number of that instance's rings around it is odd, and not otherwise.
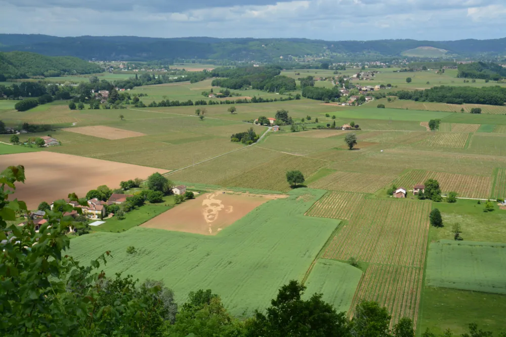
[[[294,280],[283,285],[265,314],[255,311],[246,336],[348,336],[346,314],[335,312],[321,299],[322,294],[303,300],[305,290],[304,285]]]

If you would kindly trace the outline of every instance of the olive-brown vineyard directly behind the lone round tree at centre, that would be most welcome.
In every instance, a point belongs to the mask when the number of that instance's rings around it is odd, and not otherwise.
[[[287,191],[290,189],[286,182],[286,172],[299,170],[308,177],[325,165],[324,161],[292,155],[282,155],[265,164],[241,172],[233,177],[218,182],[221,186],[244,187]]]

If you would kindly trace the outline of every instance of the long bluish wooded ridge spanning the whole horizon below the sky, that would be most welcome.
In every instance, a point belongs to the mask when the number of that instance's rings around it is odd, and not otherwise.
[[[430,49],[428,49],[430,46]],[[26,51],[48,56],[75,56],[85,60],[148,61],[207,59],[273,61],[288,56],[401,56],[421,51],[424,55],[444,50],[448,54],[503,55],[506,38],[491,40],[417,41],[324,41],[304,38],[153,38],[138,36],[56,37],[37,34],[0,34],[0,51]],[[441,52],[442,53],[442,52]],[[415,55],[415,54],[412,54]]]

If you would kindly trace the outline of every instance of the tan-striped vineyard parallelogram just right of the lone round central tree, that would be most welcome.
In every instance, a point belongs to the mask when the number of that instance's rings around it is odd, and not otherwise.
[[[394,181],[394,175],[335,172],[315,181],[312,188],[372,193]]]

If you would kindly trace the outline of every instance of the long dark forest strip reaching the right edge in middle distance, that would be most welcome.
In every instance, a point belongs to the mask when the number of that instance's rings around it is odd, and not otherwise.
[[[397,96],[401,100],[419,102],[440,102],[448,104],[489,104],[504,105],[506,102],[506,88],[496,86],[471,87],[471,86],[435,86],[425,90],[399,90],[392,91],[390,95]],[[379,94],[384,97],[384,94]],[[376,98],[378,94],[374,95]]]

